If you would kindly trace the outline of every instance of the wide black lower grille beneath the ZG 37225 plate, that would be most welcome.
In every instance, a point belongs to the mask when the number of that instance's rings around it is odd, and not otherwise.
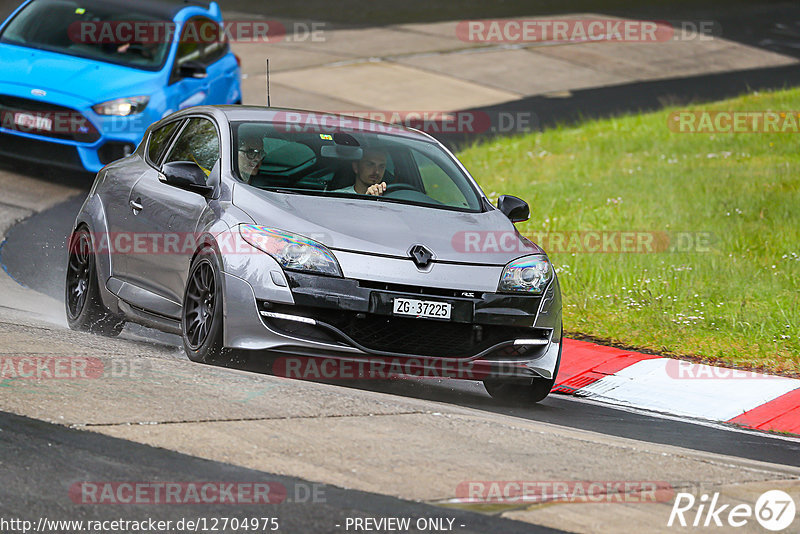
[[[545,338],[547,331],[536,328],[472,325],[377,315],[371,313],[330,310],[304,306],[271,304],[264,308],[288,315],[299,315],[330,325],[347,337],[372,351],[390,352],[410,356],[443,358],[469,358],[486,349],[521,338]],[[282,331],[289,321],[275,321],[262,317],[270,328]],[[311,327],[324,330],[324,327]],[[314,341],[322,341],[320,335],[306,336]],[[297,335],[297,330],[294,335]],[[346,340],[345,340],[346,341]],[[500,356],[499,354],[493,356]],[[521,356],[521,354],[516,354]]]

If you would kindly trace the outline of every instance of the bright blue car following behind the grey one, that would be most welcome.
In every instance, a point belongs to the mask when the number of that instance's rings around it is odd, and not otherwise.
[[[241,103],[216,2],[28,0],[0,26],[0,154],[97,172],[186,107]]]

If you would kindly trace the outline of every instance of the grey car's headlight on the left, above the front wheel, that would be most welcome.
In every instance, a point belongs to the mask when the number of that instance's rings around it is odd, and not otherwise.
[[[342,276],[331,251],[316,241],[255,224],[239,225],[239,233],[246,242],[275,258],[284,269]]]

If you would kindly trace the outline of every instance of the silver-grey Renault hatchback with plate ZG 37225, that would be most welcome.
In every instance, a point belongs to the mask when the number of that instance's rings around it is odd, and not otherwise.
[[[181,335],[198,362],[322,358],[359,376],[404,362],[537,402],[561,359],[561,292],[514,227],[529,213],[512,196],[493,206],[414,129],[190,108],[98,173],[70,240],[67,318]]]

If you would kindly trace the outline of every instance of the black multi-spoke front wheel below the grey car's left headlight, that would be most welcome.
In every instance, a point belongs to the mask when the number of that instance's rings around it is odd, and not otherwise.
[[[221,364],[230,359],[223,344],[219,260],[211,247],[201,250],[189,269],[181,311],[183,350],[193,362]]]

